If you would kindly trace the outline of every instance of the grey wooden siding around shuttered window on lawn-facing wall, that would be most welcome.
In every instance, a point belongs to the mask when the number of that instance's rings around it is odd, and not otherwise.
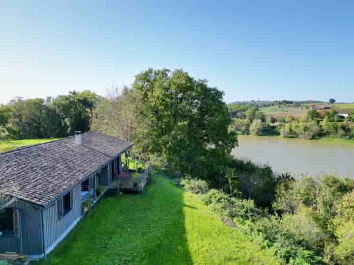
[[[44,242],[47,250],[81,215],[81,183],[73,188],[73,208],[59,220],[58,201],[43,211]]]

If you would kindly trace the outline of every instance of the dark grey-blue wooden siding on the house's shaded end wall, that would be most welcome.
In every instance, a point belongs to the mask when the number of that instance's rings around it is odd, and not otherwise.
[[[22,255],[43,254],[41,208],[21,200],[16,201],[9,208],[16,208],[20,212],[21,239],[0,236],[0,252],[15,251]]]

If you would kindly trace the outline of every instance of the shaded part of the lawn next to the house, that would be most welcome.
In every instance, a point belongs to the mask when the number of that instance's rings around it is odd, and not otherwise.
[[[183,191],[153,176],[146,191],[105,197],[39,264],[192,264]]]

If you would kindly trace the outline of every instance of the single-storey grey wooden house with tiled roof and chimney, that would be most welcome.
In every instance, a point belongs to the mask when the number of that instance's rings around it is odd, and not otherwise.
[[[0,212],[0,253],[43,258],[82,217],[87,197],[109,186],[133,143],[99,132],[0,154],[0,192],[15,185],[18,200]]]

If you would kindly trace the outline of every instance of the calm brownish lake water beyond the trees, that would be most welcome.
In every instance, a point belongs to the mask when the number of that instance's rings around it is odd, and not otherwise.
[[[333,173],[354,178],[354,144],[309,141],[267,136],[238,136],[239,147],[232,151],[236,158],[268,163],[275,172],[319,176]]]

